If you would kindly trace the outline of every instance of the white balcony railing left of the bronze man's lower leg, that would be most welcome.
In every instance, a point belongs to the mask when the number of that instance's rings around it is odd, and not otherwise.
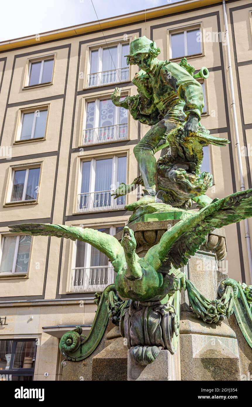
[[[121,209],[124,206],[125,196],[114,199],[110,190],[78,194],[78,212]]]

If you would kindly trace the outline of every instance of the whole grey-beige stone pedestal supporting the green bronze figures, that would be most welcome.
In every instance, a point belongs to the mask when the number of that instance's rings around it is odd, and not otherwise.
[[[157,217],[157,214],[151,216]],[[135,232],[136,252],[140,257],[159,242],[167,227],[180,219],[180,213],[167,220],[162,220],[164,214],[158,216],[158,219],[149,219],[148,215],[148,219],[129,223]],[[121,234],[116,235],[118,240]],[[224,229],[216,229],[184,267],[187,278],[210,300],[217,299],[218,284],[227,277],[227,274],[218,271],[218,262],[225,257],[225,232]],[[189,306],[187,292],[183,290],[180,304],[180,346],[177,352],[172,355],[162,350],[153,363],[142,366],[128,351],[127,380],[241,380],[237,337],[228,320],[206,324],[198,319]]]

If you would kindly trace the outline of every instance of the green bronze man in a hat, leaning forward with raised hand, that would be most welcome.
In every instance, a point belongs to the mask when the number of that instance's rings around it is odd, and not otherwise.
[[[116,106],[123,106],[135,120],[151,125],[151,129],[134,147],[140,174],[145,186],[144,195],[131,209],[142,204],[162,202],[157,191],[157,162],[154,154],[169,146],[167,137],[176,127],[184,126],[185,136],[196,133],[204,107],[202,86],[185,68],[177,63],[160,61],[160,48],[145,36],[130,44],[128,65],[141,70],[133,83],[139,94],[120,101],[121,90],[116,88],[111,96]]]

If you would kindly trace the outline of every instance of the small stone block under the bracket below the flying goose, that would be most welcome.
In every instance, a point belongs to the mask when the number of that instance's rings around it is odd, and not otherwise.
[[[161,350],[157,359],[147,366],[135,361],[128,350],[128,381],[170,381],[180,380],[179,352],[171,354],[169,350]]]

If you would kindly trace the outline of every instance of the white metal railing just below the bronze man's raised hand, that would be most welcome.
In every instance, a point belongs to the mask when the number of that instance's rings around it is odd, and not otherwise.
[[[111,125],[104,127],[95,127],[93,129],[83,130],[83,145],[98,144],[109,141],[119,141],[127,139],[128,125]]]

